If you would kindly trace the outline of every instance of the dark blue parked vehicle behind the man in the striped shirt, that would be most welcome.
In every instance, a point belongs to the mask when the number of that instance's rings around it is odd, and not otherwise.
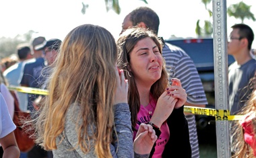
[[[199,73],[203,83],[203,89],[207,97],[208,104],[206,108],[215,109],[215,91],[214,91],[214,43],[212,38],[203,39],[181,39],[166,40],[170,44],[179,46],[195,63],[195,67]],[[233,56],[228,55],[228,65],[234,62]],[[197,130],[207,130],[207,128],[215,128],[214,116],[195,116],[197,121]]]

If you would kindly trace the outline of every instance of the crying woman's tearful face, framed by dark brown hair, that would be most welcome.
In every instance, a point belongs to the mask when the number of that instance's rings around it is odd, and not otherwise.
[[[151,38],[143,38],[137,42],[130,53],[130,66],[136,83],[151,86],[160,79],[162,54]]]

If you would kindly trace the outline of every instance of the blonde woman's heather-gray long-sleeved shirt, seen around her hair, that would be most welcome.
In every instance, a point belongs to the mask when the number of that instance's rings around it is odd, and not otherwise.
[[[57,149],[53,150],[53,155],[59,157],[96,157],[94,153],[94,141],[91,140],[90,151],[83,153],[77,147],[77,131],[75,130],[75,118],[79,112],[79,106],[76,106],[75,111],[69,109],[65,118],[65,131],[57,137]],[[115,127],[117,130],[118,141],[110,144],[110,152],[113,157],[134,157],[133,153],[133,130],[131,129],[131,113],[128,104],[115,105]],[[88,128],[88,134],[92,134],[92,130]],[[63,139],[63,141],[61,141]],[[61,143],[60,143],[61,141]],[[88,142],[86,142],[88,143]],[[89,145],[88,143],[88,145]],[[135,157],[148,157],[148,155],[137,155]]]

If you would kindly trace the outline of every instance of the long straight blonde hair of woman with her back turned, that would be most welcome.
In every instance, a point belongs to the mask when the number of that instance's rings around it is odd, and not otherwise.
[[[49,95],[36,120],[36,140],[46,150],[57,149],[56,139],[65,128],[67,109],[79,106],[77,145],[84,153],[93,140],[98,157],[111,157],[113,96],[116,89],[117,46],[108,30],[91,24],[74,28],[61,44],[49,78]],[[80,121],[80,122],[79,122]],[[93,135],[88,129],[96,129]]]

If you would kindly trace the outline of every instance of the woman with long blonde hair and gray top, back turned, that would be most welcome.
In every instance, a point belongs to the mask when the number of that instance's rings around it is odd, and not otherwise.
[[[128,82],[117,69],[115,39],[100,26],[77,26],[63,40],[38,111],[36,141],[54,157],[148,157],[155,131],[134,142]]]

